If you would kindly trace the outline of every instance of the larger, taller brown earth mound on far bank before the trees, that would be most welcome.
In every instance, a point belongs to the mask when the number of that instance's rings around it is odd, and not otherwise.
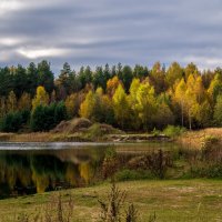
[[[69,121],[60,122],[51,132],[54,133],[74,133],[85,131],[92,125],[92,122],[84,118],[75,118]]]

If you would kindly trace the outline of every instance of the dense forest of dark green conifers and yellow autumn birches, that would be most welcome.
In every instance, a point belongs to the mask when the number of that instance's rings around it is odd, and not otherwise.
[[[129,131],[222,125],[222,69],[194,63],[168,69],[139,65],[82,67],[64,63],[58,75],[46,60],[0,68],[0,128],[48,131],[74,117]]]

